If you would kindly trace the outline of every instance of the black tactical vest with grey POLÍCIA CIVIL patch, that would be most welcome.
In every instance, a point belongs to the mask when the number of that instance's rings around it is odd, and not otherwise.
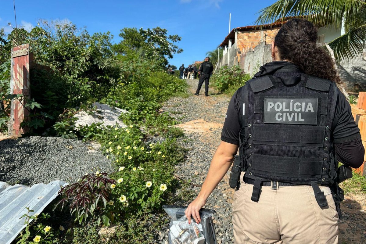
[[[247,81],[239,154],[244,177],[254,180],[253,201],[262,182],[279,181],[312,185],[318,204],[326,206],[318,184],[330,185],[336,178],[330,131],[336,99],[334,82],[303,73]]]

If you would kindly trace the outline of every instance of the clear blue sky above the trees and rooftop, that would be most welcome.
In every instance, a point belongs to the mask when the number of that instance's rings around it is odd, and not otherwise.
[[[39,19],[70,20],[86,27],[90,34],[111,31],[113,40],[123,27],[165,28],[178,34],[183,53],[169,62],[182,63],[203,60],[206,52],[215,49],[231,28],[252,25],[258,12],[275,0],[15,0],[18,25],[26,29],[37,25]],[[15,25],[13,0],[1,0],[0,27]],[[6,27],[9,31],[10,27]]]

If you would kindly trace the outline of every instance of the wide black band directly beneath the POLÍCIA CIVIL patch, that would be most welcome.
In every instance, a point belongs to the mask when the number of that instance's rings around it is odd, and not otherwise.
[[[252,138],[254,144],[323,147],[325,127],[254,124]]]

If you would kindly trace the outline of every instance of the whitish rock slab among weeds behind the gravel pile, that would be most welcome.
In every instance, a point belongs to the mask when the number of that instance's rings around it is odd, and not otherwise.
[[[94,106],[97,106],[97,112],[94,115],[88,115],[86,112],[79,112],[75,115],[78,120],[76,121],[76,127],[81,125],[91,125],[93,123],[103,123],[103,125],[112,125],[121,128],[127,127],[127,125],[123,124],[122,121],[118,119],[118,117],[122,113],[128,113],[128,111],[113,107],[111,108],[107,104],[100,104],[96,102]]]

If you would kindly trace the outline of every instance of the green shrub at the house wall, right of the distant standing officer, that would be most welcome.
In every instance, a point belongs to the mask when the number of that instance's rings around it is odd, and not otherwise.
[[[212,81],[221,92],[232,92],[244,86],[251,77],[244,73],[239,66],[229,67],[225,65],[212,76]]]

